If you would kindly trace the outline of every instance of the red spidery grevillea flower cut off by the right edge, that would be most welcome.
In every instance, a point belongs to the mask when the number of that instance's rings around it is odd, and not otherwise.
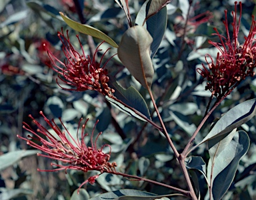
[[[203,69],[197,68],[197,72],[201,74],[204,78],[207,78],[207,86],[205,90],[210,90],[212,96],[217,98],[222,98],[225,95],[230,94],[230,92],[247,76],[254,76],[253,68],[256,66],[256,44],[255,44],[255,33],[256,33],[256,21],[254,16],[252,16],[251,28],[249,30],[249,35],[244,37],[245,41],[242,45],[239,45],[237,39],[239,33],[239,27],[241,22],[241,11],[242,3],[240,5],[240,15],[237,19],[237,1],[235,1],[235,12],[232,11],[233,23],[233,37],[231,39],[229,35],[229,23],[227,22],[227,10],[225,11],[225,29],[227,32],[227,37],[224,37],[217,31],[214,30],[221,41],[221,43],[215,43],[209,41],[209,43],[217,49],[216,61],[213,61],[211,55],[206,54],[205,60],[209,66],[209,70],[203,64]],[[211,62],[207,61],[207,57],[211,58]]]

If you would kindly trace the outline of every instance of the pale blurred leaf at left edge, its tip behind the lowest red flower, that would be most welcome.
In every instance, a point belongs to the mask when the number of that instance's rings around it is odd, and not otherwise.
[[[6,167],[13,165],[23,157],[35,155],[39,152],[40,151],[38,150],[18,150],[5,153],[0,156],[0,171],[5,169]]]

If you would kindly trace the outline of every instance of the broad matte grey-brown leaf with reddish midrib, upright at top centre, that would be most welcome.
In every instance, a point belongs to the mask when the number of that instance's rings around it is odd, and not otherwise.
[[[151,88],[154,69],[150,58],[153,39],[141,26],[131,27],[123,34],[117,54],[131,74],[147,90]]]

